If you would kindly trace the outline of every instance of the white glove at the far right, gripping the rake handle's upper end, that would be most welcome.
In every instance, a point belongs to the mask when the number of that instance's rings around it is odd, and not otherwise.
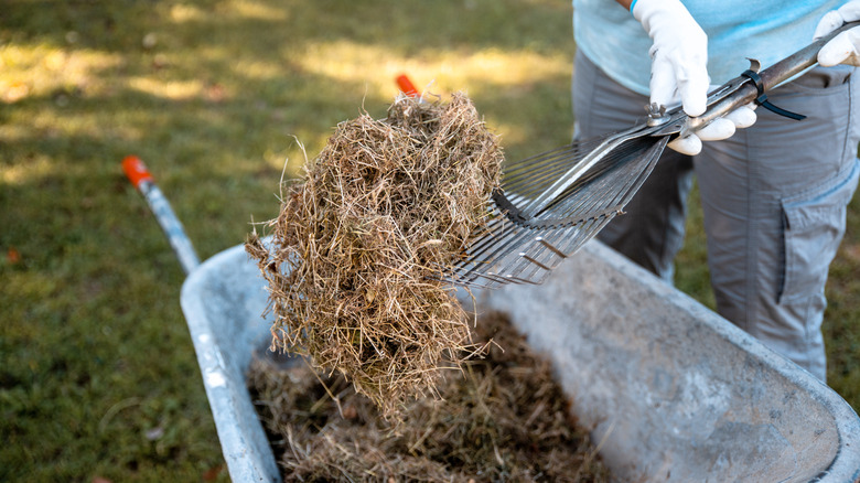
[[[860,20],[860,1],[857,0],[825,13],[815,29],[813,40],[818,40],[856,20]],[[824,67],[838,64],[860,66],[860,26],[849,29],[826,43],[818,51],[818,64]]]

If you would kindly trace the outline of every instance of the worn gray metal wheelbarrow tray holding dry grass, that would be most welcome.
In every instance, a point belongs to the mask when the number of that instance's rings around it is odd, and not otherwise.
[[[236,482],[279,481],[245,385],[270,337],[241,246],[194,270],[182,309]],[[541,286],[474,291],[552,361],[571,410],[622,481],[850,482],[860,419],[806,371],[598,242]],[[464,307],[471,298],[461,290]]]

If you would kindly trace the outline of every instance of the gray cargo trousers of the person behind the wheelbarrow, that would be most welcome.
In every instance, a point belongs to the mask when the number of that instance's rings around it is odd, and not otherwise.
[[[690,158],[666,150],[642,190],[600,239],[670,281],[687,197],[699,183],[717,310],[765,345],[826,379],[825,282],[860,174],[860,75],[817,67],[770,100],[803,121],[756,109],[755,125]],[[740,73],[739,73],[740,74]],[[577,136],[643,119],[648,99],[577,55]]]

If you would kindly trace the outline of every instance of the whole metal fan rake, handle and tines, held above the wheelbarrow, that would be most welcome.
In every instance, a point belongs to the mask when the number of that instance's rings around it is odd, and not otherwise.
[[[688,117],[680,107],[651,105],[647,119],[631,129],[507,163],[493,193],[487,223],[474,233],[460,260],[442,279],[460,286],[496,288],[505,283],[540,283],[624,211],[651,174],[666,144],[696,132],[740,106],[755,101],[782,116],[800,120],[767,101],[767,92],[816,64],[818,51],[848,23],[760,72],[750,69],[712,90],[708,109]]]

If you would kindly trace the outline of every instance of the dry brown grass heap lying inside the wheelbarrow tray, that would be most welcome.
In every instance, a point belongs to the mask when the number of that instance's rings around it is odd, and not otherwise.
[[[479,321],[490,337],[487,357],[447,378],[441,400],[411,402],[396,433],[343,377],[255,361],[248,384],[284,481],[608,481],[549,363],[497,314]]]

